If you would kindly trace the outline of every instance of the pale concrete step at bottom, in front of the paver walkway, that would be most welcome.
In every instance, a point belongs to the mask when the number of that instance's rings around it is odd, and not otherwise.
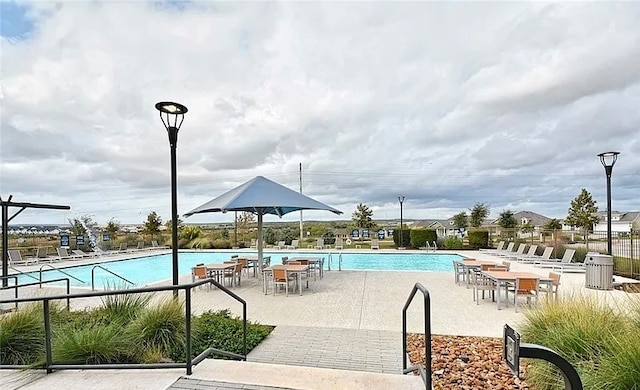
[[[270,363],[206,359],[198,364],[188,381],[178,381],[169,389],[207,389],[207,381],[229,383],[229,389],[296,389],[296,390],[389,390],[424,389],[424,382],[416,375],[383,374],[317,367],[299,367]],[[181,383],[181,384],[179,384]],[[174,387],[178,386],[178,387]],[[225,389],[215,384],[211,389]]]

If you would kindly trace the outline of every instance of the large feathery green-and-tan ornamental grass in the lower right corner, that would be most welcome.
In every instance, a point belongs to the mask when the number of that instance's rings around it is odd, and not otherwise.
[[[627,314],[598,298],[543,300],[525,313],[523,341],[558,352],[578,370],[585,389],[632,389],[640,383],[638,311]],[[530,365],[527,382],[536,389],[564,388],[557,369],[539,361]]]

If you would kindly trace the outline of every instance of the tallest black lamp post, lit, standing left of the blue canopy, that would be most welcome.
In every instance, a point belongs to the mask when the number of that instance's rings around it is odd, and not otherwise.
[[[178,131],[182,126],[187,107],[180,103],[159,102],[156,109],[160,111],[160,119],[169,135],[171,147],[171,262],[173,265],[173,285],[178,285],[178,178],[176,172],[176,148],[178,146]],[[178,119],[180,122],[178,122]],[[173,292],[174,296],[178,291]]]

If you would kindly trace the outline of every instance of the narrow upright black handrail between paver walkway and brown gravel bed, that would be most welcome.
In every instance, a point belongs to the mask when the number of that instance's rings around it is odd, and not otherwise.
[[[417,364],[407,368],[407,309],[416,293],[420,291],[424,296],[424,358],[425,367]],[[431,390],[431,297],[429,290],[422,284],[416,283],[402,308],[402,373],[408,374],[418,370],[424,381],[425,388]]]

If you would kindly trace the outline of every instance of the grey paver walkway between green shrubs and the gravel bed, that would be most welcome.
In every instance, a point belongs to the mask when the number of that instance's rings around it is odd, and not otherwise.
[[[402,333],[280,325],[247,361],[402,374]]]

